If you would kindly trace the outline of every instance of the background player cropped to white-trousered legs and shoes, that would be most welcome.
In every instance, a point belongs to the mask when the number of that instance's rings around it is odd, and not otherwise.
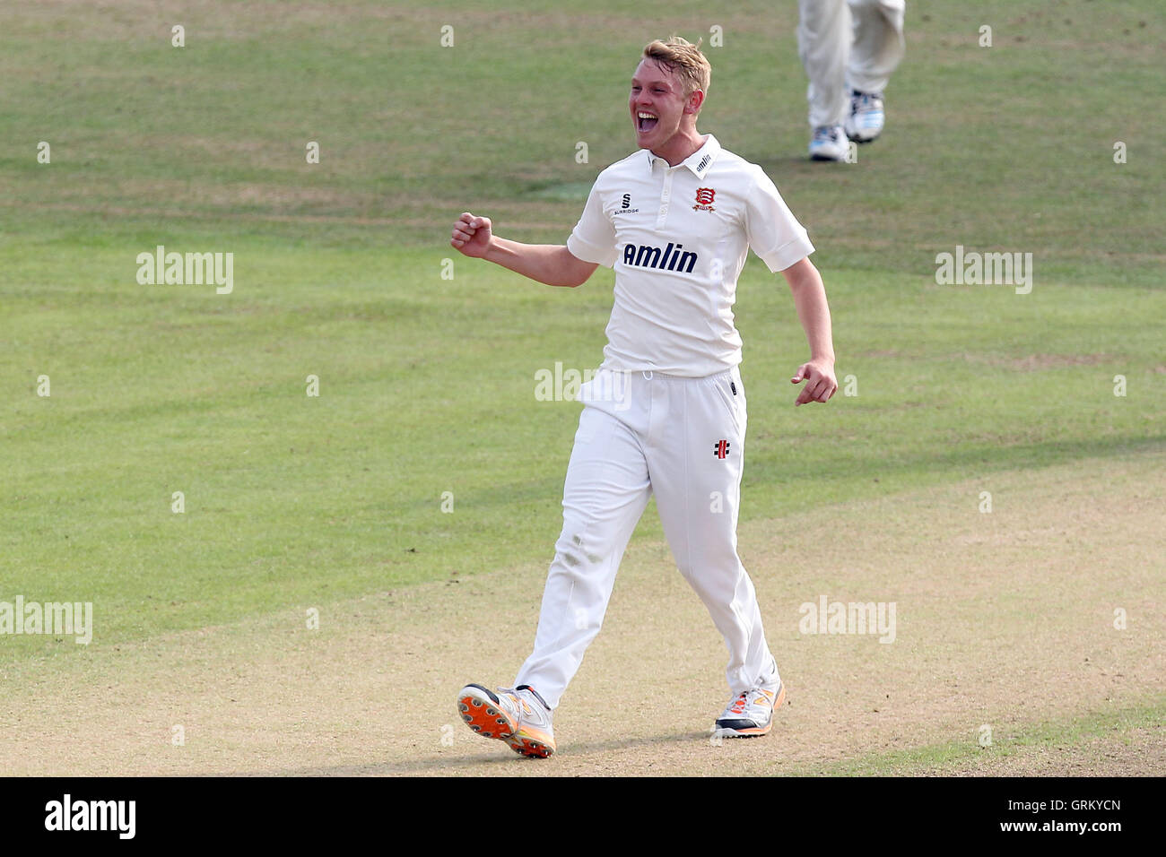
[[[848,140],[866,143],[883,133],[883,91],[906,50],[906,0],[798,1],[812,161],[844,161]]]

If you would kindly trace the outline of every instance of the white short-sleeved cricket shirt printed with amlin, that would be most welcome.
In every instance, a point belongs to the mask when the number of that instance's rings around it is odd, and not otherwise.
[[[814,252],[765,171],[712,134],[675,167],[648,149],[607,167],[567,239],[616,271],[603,367],[703,378],[739,364],[732,305],[750,247],[774,273]]]

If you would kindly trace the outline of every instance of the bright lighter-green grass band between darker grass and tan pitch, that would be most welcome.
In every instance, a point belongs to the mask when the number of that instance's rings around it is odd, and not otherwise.
[[[0,253],[6,586],[100,604],[108,641],[549,559],[577,406],[536,401],[534,377],[598,363],[610,273],[560,290],[470,260],[442,280],[415,250],[238,246],[230,296],[126,288],[113,250],[55,254],[36,286]],[[744,517],[1161,447],[1156,336],[1129,318],[1166,295],[991,288],[840,273],[858,395],[795,410],[796,319],[751,265]],[[1028,370],[1024,336],[1094,357]]]

